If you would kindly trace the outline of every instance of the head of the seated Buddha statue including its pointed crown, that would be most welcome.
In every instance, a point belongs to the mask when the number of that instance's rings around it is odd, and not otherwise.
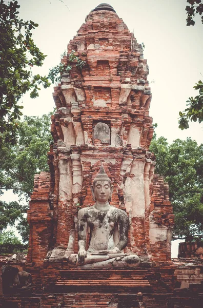
[[[99,172],[93,181],[93,185],[91,185],[91,190],[94,201],[104,203],[111,201],[113,185],[108,175],[106,174],[103,165],[101,165]]]

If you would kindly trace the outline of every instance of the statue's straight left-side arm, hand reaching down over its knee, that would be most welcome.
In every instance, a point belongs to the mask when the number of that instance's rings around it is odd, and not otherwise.
[[[87,257],[86,252],[86,234],[87,234],[87,220],[85,219],[86,208],[78,211],[77,225],[78,225],[78,262],[84,263]]]

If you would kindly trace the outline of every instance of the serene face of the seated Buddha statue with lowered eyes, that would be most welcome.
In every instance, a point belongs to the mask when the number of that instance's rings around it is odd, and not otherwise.
[[[98,202],[106,202],[109,200],[113,186],[109,181],[96,181],[93,186],[93,194]]]

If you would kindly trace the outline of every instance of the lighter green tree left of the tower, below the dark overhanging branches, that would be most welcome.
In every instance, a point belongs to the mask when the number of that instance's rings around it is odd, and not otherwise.
[[[25,117],[18,123],[17,144],[5,143],[0,160],[0,193],[12,189],[19,197],[29,196],[33,190],[34,175],[48,171],[47,152],[52,141],[50,114],[42,117]],[[17,229],[23,240],[28,240],[28,224],[25,219],[27,206],[19,202],[0,201],[0,232],[7,225],[18,222]]]

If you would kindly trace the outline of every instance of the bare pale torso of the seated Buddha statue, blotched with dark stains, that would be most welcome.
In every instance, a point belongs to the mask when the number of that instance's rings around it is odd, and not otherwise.
[[[114,248],[119,242],[119,234],[126,234],[126,230],[122,230],[124,224],[119,224],[124,220],[128,222],[128,216],[123,210],[114,206],[110,206],[107,210],[98,210],[92,206],[80,211],[83,212],[83,214],[80,213],[83,219],[78,221],[78,234],[84,236],[86,224],[91,229],[88,254]],[[118,232],[118,225],[120,232]],[[128,226],[128,223],[126,225]]]

